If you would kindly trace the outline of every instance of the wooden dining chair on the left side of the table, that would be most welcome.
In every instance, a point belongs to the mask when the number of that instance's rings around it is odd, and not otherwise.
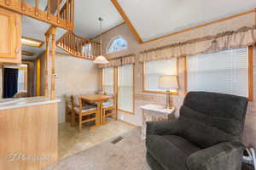
[[[82,124],[85,122],[95,122],[96,121],[96,111],[95,105],[90,105],[85,103],[79,95],[72,96],[73,101],[73,120],[75,120],[75,115],[79,116],[79,133],[82,131]]]

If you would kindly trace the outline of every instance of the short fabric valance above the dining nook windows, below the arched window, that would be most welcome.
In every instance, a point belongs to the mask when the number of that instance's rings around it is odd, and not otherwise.
[[[131,65],[135,63],[135,54],[129,54],[125,56],[120,56],[114,59],[109,59],[109,63],[106,65],[99,65],[99,68],[107,68],[113,66],[121,65]]]

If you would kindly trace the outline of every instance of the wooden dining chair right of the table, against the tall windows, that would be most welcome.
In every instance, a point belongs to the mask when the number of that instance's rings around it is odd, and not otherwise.
[[[103,122],[106,121],[106,117],[108,116],[113,116],[114,119],[117,120],[116,95],[110,93],[106,93],[106,95],[111,96],[112,98],[102,104]]]

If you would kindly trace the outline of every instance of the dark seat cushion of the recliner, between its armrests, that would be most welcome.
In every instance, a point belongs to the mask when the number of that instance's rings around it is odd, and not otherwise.
[[[149,135],[146,139],[147,150],[150,156],[164,169],[187,170],[188,156],[201,148],[189,143],[176,135]]]

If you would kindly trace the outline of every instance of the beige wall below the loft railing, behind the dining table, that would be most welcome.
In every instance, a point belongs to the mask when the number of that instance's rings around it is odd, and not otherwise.
[[[98,90],[98,69],[88,59],[66,54],[55,56],[55,97],[59,103],[59,123],[65,122],[65,95],[84,94]]]

